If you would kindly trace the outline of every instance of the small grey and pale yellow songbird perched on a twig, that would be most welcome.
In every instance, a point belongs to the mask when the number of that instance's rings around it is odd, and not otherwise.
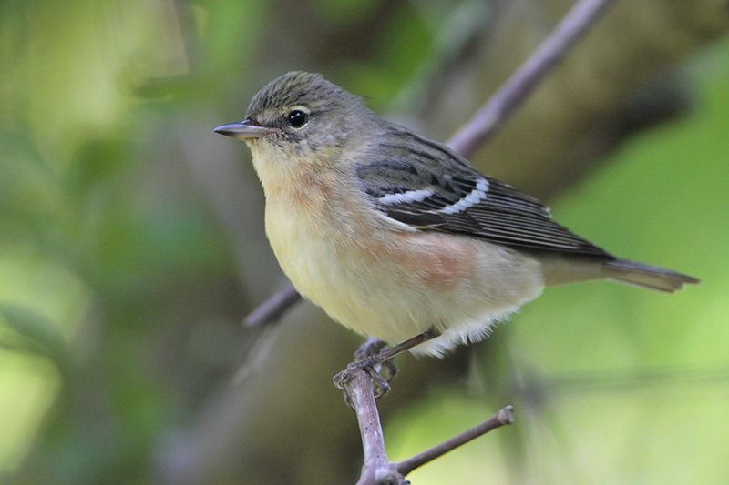
[[[265,230],[304,298],[346,328],[442,357],[487,338],[545,287],[613,279],[673,292],[699,280],[613,256],[451,148],[391,123],[320,74],[293,71],[218,126],[244,141]]]

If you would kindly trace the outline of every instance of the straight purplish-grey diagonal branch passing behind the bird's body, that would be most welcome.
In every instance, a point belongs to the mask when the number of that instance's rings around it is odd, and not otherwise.
[[[485,145],[611,3],[612,0],[580,0],[573,6],[537,51],[488,99],[476,115],[457,130],[447,145],[464,157],[470,157],[478,147]],[[286,288],[255,308],[245,318],[245,325],[258,327],[273,323],[300,299],[296,289],[288,283]]]

